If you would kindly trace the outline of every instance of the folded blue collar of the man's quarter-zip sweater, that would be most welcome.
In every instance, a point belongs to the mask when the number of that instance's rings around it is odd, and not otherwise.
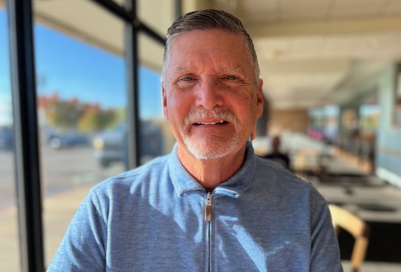
[[[206,192],[206,189],[200,185],[191,174],[184,168],[178,158],[178,145],[174,145],[173,151],[169,156],[170,177],[175,191],[179,197],[191,195],[192,193]],[[253,179],[256,168],[256,160],[253,153],[252,144],[246,143],[245,161],[241,168],[233,176],[224,181],[216,188],[212,194],[221,193],[231,197],[240,197]]]

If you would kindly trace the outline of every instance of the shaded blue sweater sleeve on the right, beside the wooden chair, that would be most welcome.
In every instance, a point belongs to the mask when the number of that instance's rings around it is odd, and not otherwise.
[[[329,207],[324,199],[322,205],[311,207],[312,244],[310,271],[343,271],[337,237],[332,224]]]

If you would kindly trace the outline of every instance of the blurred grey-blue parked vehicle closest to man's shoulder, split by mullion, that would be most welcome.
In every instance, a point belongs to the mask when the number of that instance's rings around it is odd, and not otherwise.
[[[163,137],[161,129],[150,123],[141,122],[141,160],[147,161],[163,154]],[[107,167],[113,162],[123,162],[128,165],[127,129],[126,124],[121,123],[112,130],[99,133],[93,140],[95,158],[102,167]]]

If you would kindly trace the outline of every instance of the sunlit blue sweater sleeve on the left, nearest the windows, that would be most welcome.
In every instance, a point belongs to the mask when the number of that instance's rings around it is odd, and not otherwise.
[[[94,190],[82,201],[47,271],[105,271],[107,208]]]

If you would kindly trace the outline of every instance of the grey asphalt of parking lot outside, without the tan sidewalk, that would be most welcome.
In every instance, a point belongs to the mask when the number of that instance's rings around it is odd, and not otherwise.
[[[70,190],[82,184],[97,183],[121,172],[121,163],[102,168],[90,147],[41,150],[42,193]],[[0,151],[0,209],[15,204],[14,156],[10,151]]]

